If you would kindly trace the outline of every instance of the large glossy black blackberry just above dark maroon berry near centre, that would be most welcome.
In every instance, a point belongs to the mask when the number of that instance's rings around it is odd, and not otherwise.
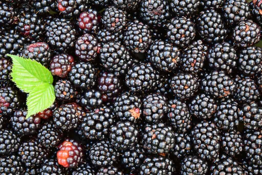
[[[119,77],[126,74],[133,64],[133,59],[123,45],[118,42],[109,42],[103,44],[100,49],[100,62],[106,70]]]

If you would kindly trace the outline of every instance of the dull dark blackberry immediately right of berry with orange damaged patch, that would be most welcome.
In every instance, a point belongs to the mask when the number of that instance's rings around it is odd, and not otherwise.
[[[157,93],[148,94],[143,99],[143,117],[146,123],[159,123],[168,112],[167,99]]]

